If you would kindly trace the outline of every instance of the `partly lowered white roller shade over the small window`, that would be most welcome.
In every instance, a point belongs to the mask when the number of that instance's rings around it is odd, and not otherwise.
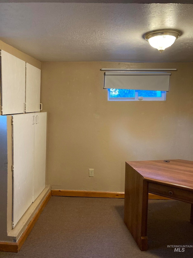
[[[104,89],[169,91],[171,73],[109,73],[105,72]]]

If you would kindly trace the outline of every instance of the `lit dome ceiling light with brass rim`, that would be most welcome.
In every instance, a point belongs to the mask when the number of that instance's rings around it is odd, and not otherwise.
[[[180,31],[166,29],[150,31],[145,34],[144,38],[152,47],[157,48],[160,53],[162,53],[164,49],[170,47],[179,36]]]

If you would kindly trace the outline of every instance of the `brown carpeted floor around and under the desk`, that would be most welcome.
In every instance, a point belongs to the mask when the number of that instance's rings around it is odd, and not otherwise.
[[[190,204],[149,200],[148,250],[141,252],[123,222],[124,199],[52,196],[18,253],[0,257],[193,257]]]

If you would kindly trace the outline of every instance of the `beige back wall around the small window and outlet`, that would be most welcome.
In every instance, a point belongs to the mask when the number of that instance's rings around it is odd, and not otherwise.
[[[100,68],[119,67],[178,71],[166,101],[108,102]],[[193,63],[43,62],[41,69],[52,189],[124,191],[125,161],[193,160]]]

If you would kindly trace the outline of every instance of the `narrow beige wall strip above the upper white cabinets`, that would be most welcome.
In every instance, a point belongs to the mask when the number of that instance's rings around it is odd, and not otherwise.
[[[14,55],[15,57],[20,58],[21,60],[24,60],[28,64],[31,64],[37,68],[41,68],[41,63],[40,61],[36,60],[33,57],[28,56],[27,54],[24,54],[23,52],[19,51],[18,49],[11,47],[10,45],[4,43],[3,41],[0,40],[0,49]]]

